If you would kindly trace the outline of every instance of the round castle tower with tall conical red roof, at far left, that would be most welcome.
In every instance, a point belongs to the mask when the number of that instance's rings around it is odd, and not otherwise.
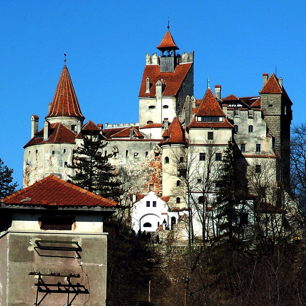
[[[45,119],[43,129],[38,130],[39,118],[37,115],[31,116],[31,140],[24,146],[24,187],[49,174],[64,180],[73,175],[73,169],[67,165],[71,165],[73,149],[80,144],[82,137],[78,135],[85,117],[66,65]]]

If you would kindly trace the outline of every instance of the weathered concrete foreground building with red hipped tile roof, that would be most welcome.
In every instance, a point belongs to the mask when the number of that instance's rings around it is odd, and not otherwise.
[[[105,305],[117,203],[50,175],[0,204],[1,305]]]

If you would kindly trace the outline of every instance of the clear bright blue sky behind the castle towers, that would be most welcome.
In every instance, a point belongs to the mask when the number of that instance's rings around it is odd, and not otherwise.
[[[30,117],[47,115],[64,49],[85,121],[138,122],[145,53],[167,30],[195,51],[194,94],[207,77],[222,96],[257,95],[275,73],[304,122],[305,1],[2,1],[0,3],[0,158],[22,187]]]

